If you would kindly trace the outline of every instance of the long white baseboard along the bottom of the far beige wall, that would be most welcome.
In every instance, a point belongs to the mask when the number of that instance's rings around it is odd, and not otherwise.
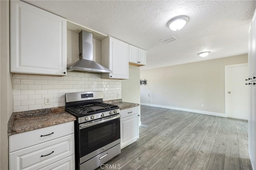
[[[165,109],[174,109],[174,110],[181,110],[181,111],[189,111],[193,113],[201,113],[205,115],[213,115],[213,116],[220,116],[220,117],[228,117],[224,113],[216,113],[216,112],[211,112],[211,111],[203,111],[203,110],[195,110],[195,109],[185,109],[185,108],[180,108],[180,107],[172,107],[172,106],[163,106],[163,105],[157,105],[157,104],[148,104],[148,103],[140,103],[140,105],[145,105],[145,106],[153,106],[153,107],[161,107]]]

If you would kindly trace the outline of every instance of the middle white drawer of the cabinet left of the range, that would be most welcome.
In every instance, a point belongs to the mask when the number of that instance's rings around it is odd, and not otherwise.
[[[10,170],[34,170],[74,154],[74,134],[9,154]]]

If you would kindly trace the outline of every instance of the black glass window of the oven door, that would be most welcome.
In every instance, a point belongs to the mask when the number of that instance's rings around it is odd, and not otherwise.
[[[80,129],[80,158],[120,139],[120,118]]]

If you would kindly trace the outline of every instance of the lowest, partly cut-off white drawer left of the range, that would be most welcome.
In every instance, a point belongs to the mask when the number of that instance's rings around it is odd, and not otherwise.
[[[40,170],[74,170],[75,169],[75,155],[68,156],[58,162],[45,166]]]

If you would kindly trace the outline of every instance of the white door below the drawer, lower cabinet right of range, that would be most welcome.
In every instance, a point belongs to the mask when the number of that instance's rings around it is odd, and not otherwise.
[[[121,149],[138,139],[138,128],[138,115],[120,119]]]

